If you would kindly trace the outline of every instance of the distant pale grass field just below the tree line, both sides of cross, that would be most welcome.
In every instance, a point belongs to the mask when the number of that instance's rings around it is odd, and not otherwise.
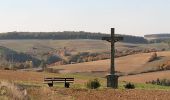
[[[105,52],[110,51],[110,43],[102,40],[0,40],[0,46],[16,50],[18,52],[29,51],[33,47],[39,50],[49,51],[59,48],[72,48],[77,52]],[[155,48],[155,49],[169,49],[168,44],[154,43],[154,44],[130,44],[130,43],[116,43],[118,50],[125,50],[128,48]]]

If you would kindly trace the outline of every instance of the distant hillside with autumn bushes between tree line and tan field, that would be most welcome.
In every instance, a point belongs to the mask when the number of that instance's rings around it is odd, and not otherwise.
[[[110,43],[102,40],[0,40],[0,46],[4,51],[3,59],[6,62],[23,63],[33,60],[33,63],[36,63],[34,67],[39,67],[41,62],[51,66],[110,58]],[[166,43],[118,42],[115,57],[168,49]]]

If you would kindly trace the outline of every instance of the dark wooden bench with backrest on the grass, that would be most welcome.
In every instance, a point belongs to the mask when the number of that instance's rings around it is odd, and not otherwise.
[[[74,78],[50,77],[50,78],[44,78],[44,82],[48,84],[49,87],[53,87],[54,83],[64,83],[64,86],[66,88],[69,88],[70,83],[74,82]]]

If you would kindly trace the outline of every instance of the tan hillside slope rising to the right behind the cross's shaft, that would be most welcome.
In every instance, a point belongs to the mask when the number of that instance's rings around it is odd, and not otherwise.
[[[159,66],[170,60],[170,52],[165,51],[157,52],[157,55],[161,58],[153,62],[148,62],[151,54],[152,53],[140,53],[116,58],[115,68],[117,73],[120,75],[131,75],[151,71],[160,71],[161,69],[159,69]],[[109,68],[110,60],[101,60],[79,64],[53,66],[49,67],[49,70],[53,69],[54,72],[58,73],[101,73],[101,75],[105,76],[109,72]]]

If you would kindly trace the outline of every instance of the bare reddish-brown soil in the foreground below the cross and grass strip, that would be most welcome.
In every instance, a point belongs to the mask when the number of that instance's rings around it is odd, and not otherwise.
[[[170,100],[170,91],[166,90],[63,89],[56,92],[75,100]]]

